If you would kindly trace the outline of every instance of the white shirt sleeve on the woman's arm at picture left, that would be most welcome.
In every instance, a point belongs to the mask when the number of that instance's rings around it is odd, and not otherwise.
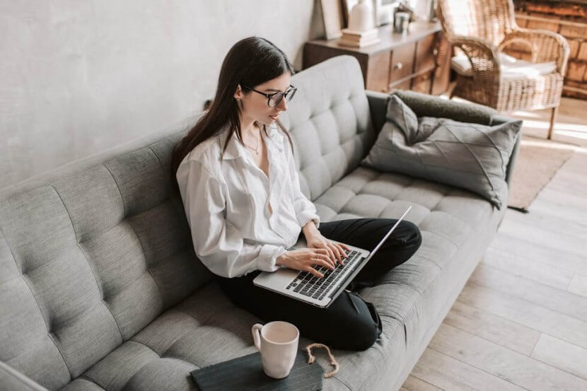
[[[285,252],[279,245],[245,243],[238,229],[224,218],[226,198],[220,180],[199,161],[190,160],[178,169],[187,175],[180,187],[194,251],[214,274],[226,278],[243,276],[257,269],[275,272],[277,257]]]

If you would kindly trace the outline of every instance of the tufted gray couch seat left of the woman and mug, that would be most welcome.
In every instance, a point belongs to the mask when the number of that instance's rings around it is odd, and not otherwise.
[[[257,322],[210,281],[62,390],[197,390],[192,370],[256,351]]]

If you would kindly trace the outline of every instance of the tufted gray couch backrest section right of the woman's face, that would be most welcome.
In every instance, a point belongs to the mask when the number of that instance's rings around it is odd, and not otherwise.
[[[294,75],[291,84],[298,91],[281,121],[294,141],[301,189],[314,201],[359,165],[376,134],[354,57],[327,59]]]

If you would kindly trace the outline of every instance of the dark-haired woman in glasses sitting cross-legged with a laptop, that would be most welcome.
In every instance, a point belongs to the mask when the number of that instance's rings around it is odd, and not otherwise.
[[[382,324],[373,304],[352,291],[373,285],[414,254],[422,243],[414,223],[402,221],[328,308],[252,284],[260,272],[282,266],[322,277],[320,267],[335,269],[347,257],[349,247],[333,240],[371,250],[397,221],[320,223],[301,192],[293,143],[278,120],[296,93],[292,74],[284,52],[268,40],[248,37],[233,45],[209,109],[175,147],[176,190],[197,256],[233,303],[265,322],[291,322],[332,348],[364,350],[378,339]],[[302,234],[308,247],[286,250]]]

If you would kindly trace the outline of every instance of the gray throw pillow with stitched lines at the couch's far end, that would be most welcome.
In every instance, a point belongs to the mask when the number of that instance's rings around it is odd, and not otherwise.
[[[418,118],[392,95],[387,121],[361,165],[462,187],[501,209],[506,167],[521,126],[521,120],[488,126]]]

